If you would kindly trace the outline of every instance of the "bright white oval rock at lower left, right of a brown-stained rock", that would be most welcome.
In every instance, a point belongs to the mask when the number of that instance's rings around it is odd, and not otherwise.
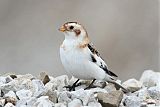
[[[19,99],[26,99],[32,96],[32,92],[30,90],[22,89],[16,92],[16,95]]]

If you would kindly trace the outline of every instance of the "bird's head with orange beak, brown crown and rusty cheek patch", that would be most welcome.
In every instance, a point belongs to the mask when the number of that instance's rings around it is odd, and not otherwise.
[[[67,22],[63,24],[59,31],[63,32],[65,39],[83,41],[88,38],[85,28],[78,22]]]

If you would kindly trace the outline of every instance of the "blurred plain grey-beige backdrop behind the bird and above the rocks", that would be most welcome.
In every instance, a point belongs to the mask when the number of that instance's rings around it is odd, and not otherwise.
[[[85,26],[119,78],[159,71],[159,0],[0,0],[0,74],[66,74],[59,58],[67,21]]]

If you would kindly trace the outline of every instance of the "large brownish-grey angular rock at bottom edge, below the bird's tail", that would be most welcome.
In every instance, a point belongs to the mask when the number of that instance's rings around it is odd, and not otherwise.
[[[103,107],[118,107],[123,98],[123,92],[118,90],[110,93],[98,93],[97,98]]]

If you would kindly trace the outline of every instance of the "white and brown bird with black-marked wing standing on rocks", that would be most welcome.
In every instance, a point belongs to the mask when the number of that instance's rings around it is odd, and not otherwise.
[[[126,88],[115,82],[118,76],[108,69],[83,25],[79,22],[66,22],[59,31],[65,36],[60,46],[62,65],[69,74],[78,78],[72,86],[68,86],[70,91],[74,91],[79,85],[79,80],[83,79],[92,80],[85,89],[92,87],[95,80],[102,80],[113,83],[124,92],[128,92]]]

